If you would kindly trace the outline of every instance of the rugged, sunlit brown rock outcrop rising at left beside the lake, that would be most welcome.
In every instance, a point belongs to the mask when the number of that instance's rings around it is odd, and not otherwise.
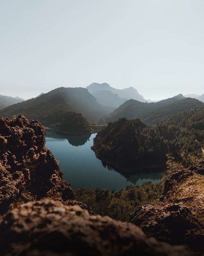
[[[45,133],[38,121],[24,116],[0,118],[0,215],[43,197],[74,199],[58,161],[44,147]]]

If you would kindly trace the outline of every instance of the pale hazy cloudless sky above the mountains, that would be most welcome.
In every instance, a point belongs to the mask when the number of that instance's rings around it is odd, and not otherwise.
[[[204,93],[204,0],[0,0],[0,94]]]

